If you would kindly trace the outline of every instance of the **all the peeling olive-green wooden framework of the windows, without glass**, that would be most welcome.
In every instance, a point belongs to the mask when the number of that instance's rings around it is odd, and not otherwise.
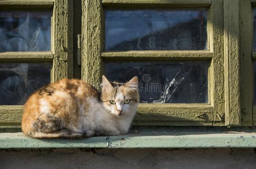
[[[208,50],[111,51],[104,9],[207,9]],[[207,104],[140,104],[134,125],[253,126],[253,8],[256,0],[82,0],[81,78],[99,88],[105,61],[209,61]],[[0,9],[51,9],[52,51],[0,53],[0,62],[50,62],[51,81],[73,75],[73,1],[1,0]],[[0,106],[0,128],[20,127],[22,106]]]

